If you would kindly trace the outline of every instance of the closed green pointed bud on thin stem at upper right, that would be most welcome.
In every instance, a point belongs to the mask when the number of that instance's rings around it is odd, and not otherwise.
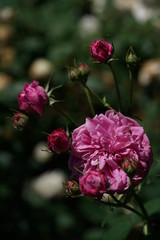
[[[126,54],[126,63],[128,65],[129,68],[135,68],[138,66],[139,63],[139,58],[137,57],[137,55],[135,54],[135,51],[132,47],[130,47],[127,51]]]

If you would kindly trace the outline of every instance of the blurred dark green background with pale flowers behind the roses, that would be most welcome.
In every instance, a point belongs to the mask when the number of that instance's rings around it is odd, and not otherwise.
[[[32,128],[13,128],[13,110],[25,82],[36,79],[55,90],[57,108],[79,124],[90,116],[79,83],[71,83],[67,67],[84,62],[91,69],[88,86],[117,108],[114,81],[104,65],[94,64],[89,45],[95,39],[114,43],[114,62],[124,113],[129,76],[125,62],[133,46],[140,57],[134,79],[133,113],[144,126],[154,152],[154,164],[142,188],[145,202],[160,210],[160,2],[158,0],[1,0],[0,1],[0,238],[39,240],[119,240],[131,224],[122,210],[110,211],[88,199],[64,196],[62,182],[70,175],[65,155],[49,154],[46,135],[58,127],[73,127],[54,109],[35,119]],[[93,99],[97,113],[103,106]],[[44,151],[43,151],[44,150]],[[158,199],[158,200],[157,200]],[[156,203],[156,204],[155,204]],[[122,216],[122,217],[121,217]],[[133,219],[132,219],[133,220]],[[118,223],[118,224],[117,224]],[[121,223],[121,224],[120,224]],[[122,225],[123,223],[123,225]],[[123,226],[125,227],[125,230]],[[122,230],[123,229],[123,230]],[[118,235],[117,235],[118,234]],[[122,235],[120,235],[122,234]],[[121,237],[120,237],[121,236]],[[136,239],[136,238],[134,238]],[[138,238],[137,238],[138,239]]]

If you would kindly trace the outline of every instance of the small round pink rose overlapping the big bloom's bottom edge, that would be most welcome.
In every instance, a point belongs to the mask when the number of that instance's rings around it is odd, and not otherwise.
[[[102,196],[106,192],[107,183],[99,170],[90,170],[79,179],[81,193],[90,197]]]

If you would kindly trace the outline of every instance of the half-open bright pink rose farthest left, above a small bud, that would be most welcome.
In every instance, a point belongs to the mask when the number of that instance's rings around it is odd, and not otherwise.
[[[42,115],[47,102],[44,88],[35,80],[31,84],[25,83],[23,91],[18,95],[19,108],[26,113]]]

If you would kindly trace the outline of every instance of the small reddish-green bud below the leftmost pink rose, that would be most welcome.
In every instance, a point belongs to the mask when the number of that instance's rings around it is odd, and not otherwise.
[[[17,112],[16,114],[14,114],[12,119],[14,127],[18,130],[22,130],[24,127],[26,127],[29,120],[29,118],[21,112]]]

